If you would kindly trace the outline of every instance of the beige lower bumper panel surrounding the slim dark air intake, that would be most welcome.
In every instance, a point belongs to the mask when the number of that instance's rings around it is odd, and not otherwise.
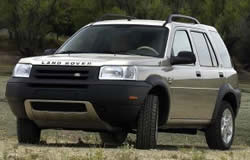
[[[77,107],[58,108],[62,104],[67,107],[77,104]],[[113,127],[99,118],[90,102],[33,99],[25,100],[24,106],[28,118],[33,120],[40,128],[67,127],[72,129],[114,130]],[[53,108],[49,108],[50,106],[53,106]],[[69,110],[69,112],[66,110]]]

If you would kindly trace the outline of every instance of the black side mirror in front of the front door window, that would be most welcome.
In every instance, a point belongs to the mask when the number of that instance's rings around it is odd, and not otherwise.
[[[172,56],[170,58],[170,63],[175,64],[194,64],[196,62],[196,57],[193,52],[181,51],[178,56]]]

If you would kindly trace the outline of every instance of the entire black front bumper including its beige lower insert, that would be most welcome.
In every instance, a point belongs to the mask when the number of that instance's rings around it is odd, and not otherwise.
[[[13,78],[7,84],[11,110],[17,118],[30,119],[41,129],[134,129],[151,88],[145,82],[98,81],[84,88],[64,88],[16,81]]]

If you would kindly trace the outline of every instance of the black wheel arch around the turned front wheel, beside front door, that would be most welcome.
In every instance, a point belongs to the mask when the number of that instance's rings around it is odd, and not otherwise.
[[[164,125],[168,119],[170,110],[169,88],[163,77],[151,75],[146,80],[152,85],[148,94],[154,94],[159,98],[159,125]]]

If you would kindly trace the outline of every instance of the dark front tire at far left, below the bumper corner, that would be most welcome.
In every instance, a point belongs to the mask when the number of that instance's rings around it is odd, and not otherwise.
[[[18,142],[23,144],[38,144],[40,142],[41,129],[28,119],[17,119]]]

